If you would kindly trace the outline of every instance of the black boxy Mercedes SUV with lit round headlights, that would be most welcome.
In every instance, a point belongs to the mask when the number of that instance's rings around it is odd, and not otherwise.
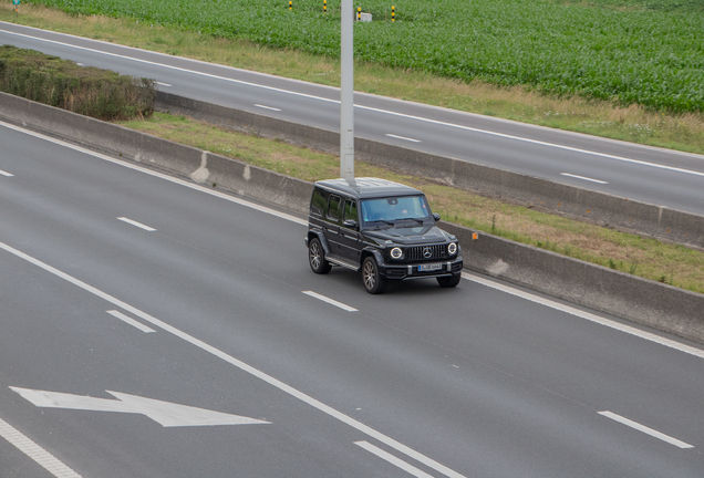
[[[321,180],[310,201],[308,261],[315,273],[361,268],[370,293],[383,292],[389,280],[435,278],[453,288],[462,278],[462,251],[437,220],[412,187],[376,178]]]

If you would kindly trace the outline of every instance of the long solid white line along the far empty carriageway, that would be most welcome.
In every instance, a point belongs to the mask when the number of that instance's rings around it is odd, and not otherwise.
[[[64,42],[60,42],[60,41],[55,41],[55,40],[46,40],[46,39],[43,39],[43,38],[32,37],[32,35],[28,35],[28,34],[24,34],[24,33],[17,33],[17,32],[11,32],[11,31],[7,31],[7,30],[0,30],[0,32],[8,33],[8,34],[13,34],[13,35],[17,35],[17,37],[24,37],[24,38],[29,38],[29,39],[32,39],[32,40],[44,41],[44,42],[48,42],[48,43],[60,44],[60,45],[63,45],[63,46],[74,48],[74,49],[77,49],[77,50],[90,51],[90,52],[93,52],[93,53],[100,53],[100,54],[104,54],[104,55],[108,55],[108,56],[123,58],[125,60],[132,60],[132,61],[139,62],[139,63],[153,64],[155,66],[163,66],[163,67],[166,67],[166,69],[169,69],[169,70],[182,71],[182,72],[185,72],[185,73],[193,73],[193,74],[196,74],[196,75],[213,77],[213,79],[217,79],[217,80],[228,81],[228,82],[232,82],[232,83],[244,84],[244,85],[259,87],[259,89],[269,90],[269,91],[276,91],[276,92],[280,92],[280,93],[284,93],[284,94],[291,94],[291,95],[301,96],[301,97],[309,97],[309,98],[312,98],[312,100],[319,100],[319,101],[323,101],[323,102],[328,102],[328,103],[340,103],[339,100],[330,100],[330,98],[322,97],[322,96],[310,95],[310,94],[306,94],[306,93],[299,93],[299,92],[294,92],[294,91],[290,91],[290,90],[283,90],[283,89],[278,89],[278,87],[273,87],[273,86],[266,86],[266,85],[258,84],[258,83],[229,79],[229,77],[226,77],[226,76],[214,75],[214,74],[209,74],[209,73],[199,72],[199,71],[196,71],[196,70],[182,69],[182,67],[178,67],[178,66],[172,66],[172,65],[164,64],[164,63],[157,63],[157,62],[152,62],[152,61],[147,61],[147,60],[141,60],[141,59],[137,59],[137,58],[134,58],[134,56],[127,56],[127,55],[121,55],[121,54],[116,54],[116,53],[110,53],[110,52],[95,50],[95,49],[90,49],[90,48],[85,48],[85,46],[77,46],[77,45],[73,45],[73,44],[70,44],[70,43],[64,43]],[[73,35],[66,35],[66,34],[63,34],[63,35],[64,37],[73,37]],[[73,38],[81,39],[80,37],[73,37]],[[84,40],[84,39],[82,39],[82,40]],[[104,43],[104,42],[99,42],[99,43]],[[138,50],[138,49],[131,49],[131,50],[144,51],[144,50]],[[156,52],[149,52],[149,53],[158,54],[158,55],[162,55],[162,56],[168,56],[168,55],[163,54],[163,53],[156,53]],[[193,61],[194,63],[207,64],[205,62],[199,62],[197,60],[190,60],[190,61]],[[237,69],[234,69],[234,70],[237,70]],[[392,112],[392,111],[387,111],[387,110],[381,110],[381,108],[375,108],[375,107],[371,107],[371,106],[362,106],[362,105],[356,105],[355,104],[354,107],[360,108],[360,110],[366,110],[366,111],[373,111],[373,112],[377,112],[377,113],[382,113],[382,114],[387,114],[387,115],[392,115],[392,116],[398,116],[398,117],[405,117],[405,118],[408,118],[408,119],[415,119],[415,121],[418,121],[418,122],[431,123],[431,124],[436,124],[436,125],[441,125],[441,126],[448,126],[448,127],[453,127],[453,128],[457,128],[457,129],[464,129],[464,131],[469,131],[469,132],[474,132],[474,133],[482,133],[482,134],[487,134],[487,135],[497,136],[497,137],[504,137],[504,138],[507,138],[507,139],[515,139],[515,141],[519,141],[519,142],[526,142],[526,143],[531,143],[531,144],[537,144],[537,145],[541,145],[541,146],[553,147],[553,148],[563,149],[563,150],[571,150],[571,152],[574,152],[574,153],[582,153],[582,154],[587,154],[587,155],[600,156],[600,157],[604,157],[604,158],[609,158],[609,159],[615,159],[615,160],[619,160],[619,162],[638,164],[638,165],[641,165],[641,166],[649,166],[649,167],[654,167],[654,168],[660,168],[660,169],[667,169],[667,170],[672,170],[672,172],[676,172],[676,173],[684,173],[684,174],[690,174],[690,175],[704,177],[704,173],[702,173],[702,172],[695,172],[695,170],[691,170],[691,169],[677,168],[677,167],[673,167],[673,166],[665,166],[665,165],[661,165],[661,164],[658,164],[658,163],[648,163],[648,162],[643,162],[643,160],[627,158],[627,157],[623,157],[623,156],[615,156],[615,155],[610,155],[610,154],[607,154],[607,153],[598,153],[598,152],[593,152],[593,150],[589,150],[589,149],[581,149],[581,148],[577,148],[577,147],[565,146],[565,145],[560,145],[560,144],[556,144],[556,143],[548,143],[548,142],[542,142],[542,141],[537,141],[537,139],[530,139],[530,138],[527,138],[527,137],[515,136],[515,135],[509,135],[509,134],[505,134],[505,133],[497,133],[497,132],[491,132],[491,131],[488,131],[488,129],[480,129],[480,128],[475,128],[475,127],[470,127],[470,126],[464,126],[464,125],[459,125],[459,124],[455,124],[455,123],[442,122],[442,121],[437,121],[437,119],[431,119],[431,118],[426,118],[426,117],[423,117],[423,116],[407,115],[407,114],[404,114],[404,113],[396,113],[396,112]]]

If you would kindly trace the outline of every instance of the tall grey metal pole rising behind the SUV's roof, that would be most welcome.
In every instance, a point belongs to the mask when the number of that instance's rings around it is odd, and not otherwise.
[[[340,62],[340,176],[354,179],[354,39],[352,0],[342,0]]]

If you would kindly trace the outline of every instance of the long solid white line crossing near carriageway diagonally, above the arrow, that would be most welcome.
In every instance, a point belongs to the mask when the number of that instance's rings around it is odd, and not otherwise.
[[[322,402],[311,397],[310,395],[304,394],[303,392],[300,392],[296,388],[293,388],[290,385],[287,385],[286,383],[272,377],[271,375],[267,375],[266,373],[261,372],[258,368],[255,368],[253,366],[239,361],[237,358],[235,358],[234,356],[220,351],[219,349],[214,347],[213,345],[209,345],[196,337],[194,337],[193,335],[187,334],[186,332],[183,332],[178,329],[176,329],[175,326],[172,326],[169,324],[167,324],[166,322],[156,319],[149,314],[147,314],[146,312],[142,312],[139,309],[136,309],[130,304],[127,304],[126,302],[121,301],[120,299],[115,299],[114,297],[94,288],[93,285],[89,285],[87,283],[75,279],[72,276],[69,276],[65,272],[60,271],[59,269],[55,269],[42,261],[40,261],[39,259],[35,259],[29,254],[25,254],[22,251],[19,251],[3,242],[0,242],[0,249],[4,249],[6,251],[10,252],[11,254],[23,259],[43,270],[45,270],[46,272],[50,272],[81,289],[83,289],[86,292],[90,292],[103,300],[105,300],[106,302],[112,303],[115,306],[118,306],[122,310],[125,310],[127,312],[130,312],[133,315],[138,316],[139,319],[144,320],[145,322],[151,323],[154,326],[157,326],[188,343],[190,343],[191,345],[195,345],[199,349],[201,349],[205,352],[208,352],[215,356],[217,356],[218,358],[221,358],[222,361],[229,363],[230,365],[234,365],[238,368],[240,368],[244,372],[247,372],[249,374],[251,374],[252,376],[261,380],[262,382],[268,383],[269,385],[279,388],[280,391],[300,399],[301,402],[312,406],[313,408],[317,408],[318,411],[333,417],[337,418],[338,420],[349,425],[350,427],[383,443],[384,445],[390,446],[391,448],[394,448],[395,450],[405,454],[407,456],[410,456],[411,458],[415,459],[418,463],[424,464],[425,466],[433,468],[436,471],[442,472],[443,475],[449,477],[449,478],[466,478],[464,477],[464,475],[458,474],[457,471],[446,467],[445,465],[442,465],[437,461],[435,461],[434,459],[426,457],[425,455],[414,450],[413,448],[407,447],[406,445],[403,445],[400,441],[396,441],[395,439],[382,434],[381,432],[375,430],[374,428],[364,425],[363,423],[343,414],[342,412],[339,412],[334,408],[332,408],[329,405],[323,404]]]

